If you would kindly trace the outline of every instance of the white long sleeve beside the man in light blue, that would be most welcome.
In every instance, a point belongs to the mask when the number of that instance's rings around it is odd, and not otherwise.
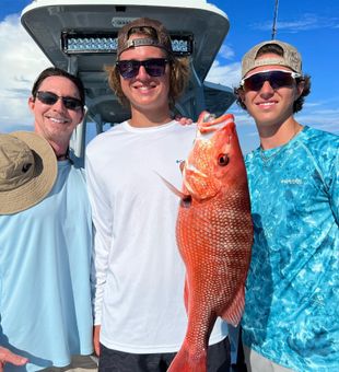
[[[85,168],[87,175],[89,198],[93,219],[93,258],[91,282],[93,291],[94,325],[101,324],[103,293],[106,284],[109,251],[113,244],[112,208],[105,184],[101,179],[97,162],[86,155]]]

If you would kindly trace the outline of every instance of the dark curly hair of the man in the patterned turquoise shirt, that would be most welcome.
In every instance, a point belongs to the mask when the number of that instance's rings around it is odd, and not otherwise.
[[[283,49],[279,45],[269,44],[269,45],[262,46],[258,50],[257,57],[260,57],[260,56],[269,54],[269,53],[272,53],[272,54],[278,55],[278,56],[283,56]],[[311,77],[308,74],[305,74],[302,78],[296,78],[295,82],[296,82],[296,84],[303,82],[304,83],[304,90],[303,90],[302,94],[300,95],[300,97],[297,100],[295,100],[294,103],[293,103],[293,113],[294,114],[300,112],[303,108],[305,96],[307,96],[311,92]],[[242,91],[244,91],[244,89],[241,85],[234,89],[234,94],[236,96],[236,103],[242,108],[247,111],[247,107],[244,104],[244,102],[241,97],[241,94],[239,94],[239,92],[242,92]]]

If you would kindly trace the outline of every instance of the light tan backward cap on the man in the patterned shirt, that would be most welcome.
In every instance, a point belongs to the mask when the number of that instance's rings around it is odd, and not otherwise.
[[[256,59],[258,56],[258,51],[266,45],[279,45],[283,50],[283,56],[277,56],[273,58],[260,58]],[[248,71],[255,69],[259,66],[268,66],[268,65],[279,65],[284,66],[297,72],[302,73],[302,56],[291,44],[280,42],[280,40],[268,40],[262,42],[254,46],[250,50],[248,50],[242,60],[242,79],[248,73]]]

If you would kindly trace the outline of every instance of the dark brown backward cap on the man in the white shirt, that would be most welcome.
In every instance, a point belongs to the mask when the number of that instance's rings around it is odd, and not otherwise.
[[[152,37],[142,37],[129,40],[132,28],[138,27],[151,27],[154,30],[156,34],[156,39]],[[119,58],[120,54],[126,49],[138,47],[138,46],[155,46],[157,48],[165,49],[170,55],[173,54],[172,50],[172,42],[170,37],[168,31],[165,26],[156,21],[148,18],[137,19],[128,24],[126,24],[122,28],[120,28],[118,33],[118,48],[117,56]]]

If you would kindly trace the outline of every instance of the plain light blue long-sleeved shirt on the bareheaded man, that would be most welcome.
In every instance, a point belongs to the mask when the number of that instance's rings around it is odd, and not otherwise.
[[[83,170],[58,162],[38,205],[0,216],[0,345],[30,359],[5,371],[65,367],[92,352],[92,222]]]

